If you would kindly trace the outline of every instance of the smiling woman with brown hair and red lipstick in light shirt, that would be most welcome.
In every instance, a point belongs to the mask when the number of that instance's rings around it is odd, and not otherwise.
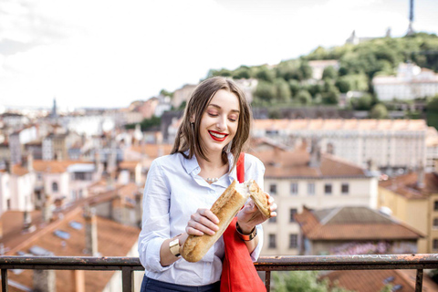
[[[235,158],[248,140],[250,123],[248,102],[232,80],[209,78],[193,91],[171,155],[156,159],[148,172],[139,237],[141,264],[146,269],[141,291],[219,290],[222,237],[197,263],[181,258],[179,247],[188,235],[214,235],[219,229],[210,207],[236,179]],[[254,179],[263,187],[264,172],[262,162],[245,154],[245,181]],[[275,211],[271,197],[269,203]],[[266,217],[251,201],[237,214],[241,234],[256,233],[245,241],[254,261],[262,248],[260,224],[264,221]]]

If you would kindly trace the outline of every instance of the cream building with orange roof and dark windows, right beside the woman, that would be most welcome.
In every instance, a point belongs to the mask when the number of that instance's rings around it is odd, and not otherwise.
[[[303,206],[321,209],[360,205],[377,207],[378,172],[370,172],[333,155],[306,148],[286,151],[258,146],[253,153],[266,167],[265,191],[276,200],[277,217],[264,224],[262,255],[298,255],[299,225],[295,214]]]

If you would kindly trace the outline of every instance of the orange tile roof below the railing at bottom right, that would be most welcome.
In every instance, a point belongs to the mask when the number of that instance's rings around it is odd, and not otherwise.
[[[321,278],[328,279],[330,287],[343,287],[357,292],[381,291],[386,285],[384,281],[387,280],[387,283],[391,284],[392,287],[401,285],[401,289],[397,291],[402,292],[415,289],[415,273],[415,270],[333,271],[321,276]],[[427,274],[423,275],[422,287],[424,291],[438,291],[438,285]]]

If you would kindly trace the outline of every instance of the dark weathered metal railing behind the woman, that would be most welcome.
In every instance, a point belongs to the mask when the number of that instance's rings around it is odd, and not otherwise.
[[[76,256],[0,256],[0,268],[3,292],[7,292],[8,269],[121,271],[123,292],[133,291],[133,271],[144,269],[136,257]],[[416,269],[415,292],[420,292],[423,269],[438,268],[438,254],[261,256],[255,268],[266,272],[267,291],[271,271]]]

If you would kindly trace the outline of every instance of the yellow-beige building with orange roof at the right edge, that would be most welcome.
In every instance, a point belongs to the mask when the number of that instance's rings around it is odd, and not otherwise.
[[[409,173],[382,181],[379,183],[379,206],[391,209],[395,218],[426,235],[418,242],[419,253],[438,252],[436,173]]]

